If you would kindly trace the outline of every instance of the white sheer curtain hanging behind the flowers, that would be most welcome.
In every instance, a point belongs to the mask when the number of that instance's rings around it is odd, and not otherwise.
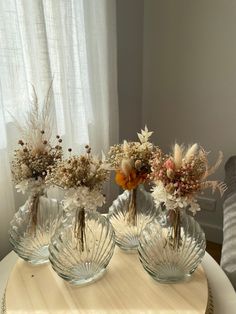
[[[118,140],[115,16],[115,0],[0,1],[0,258],[21,202],[9,166],[19,134],[8,112],[23,119],[31,84],[43,101],[53,78],[65,147],[89,143],[100,153]]]

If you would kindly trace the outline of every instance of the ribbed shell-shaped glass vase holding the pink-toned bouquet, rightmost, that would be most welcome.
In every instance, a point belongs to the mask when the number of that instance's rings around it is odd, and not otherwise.
[[[158,282],[187,280],[201,262],[206,248],[205,234],[186,210],[164,209],[146,226],[139,241],[139,259]]]

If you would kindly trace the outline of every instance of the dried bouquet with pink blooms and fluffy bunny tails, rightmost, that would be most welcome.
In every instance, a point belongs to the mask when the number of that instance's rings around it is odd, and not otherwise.
[[[159,150],[153,155],[152,171],[149,175],[155,184],[152,195],[158,206],[164,204],[167,209],[173,211],[174,228],[171,238],[174,247],[180,243],[180,209],[187,207],[195,214],[200,210],[196,199],[199,192],[212,188],[213,192],[218,189],[223,195],[227,188],[222,182],[207,180],[219,167],[223,159],[222,152],[219,152],[219,157],[212,167],[209,167],[207,155],[208,153],[197,144],[188,149],[175,144],[172,154],[164,154]]]

